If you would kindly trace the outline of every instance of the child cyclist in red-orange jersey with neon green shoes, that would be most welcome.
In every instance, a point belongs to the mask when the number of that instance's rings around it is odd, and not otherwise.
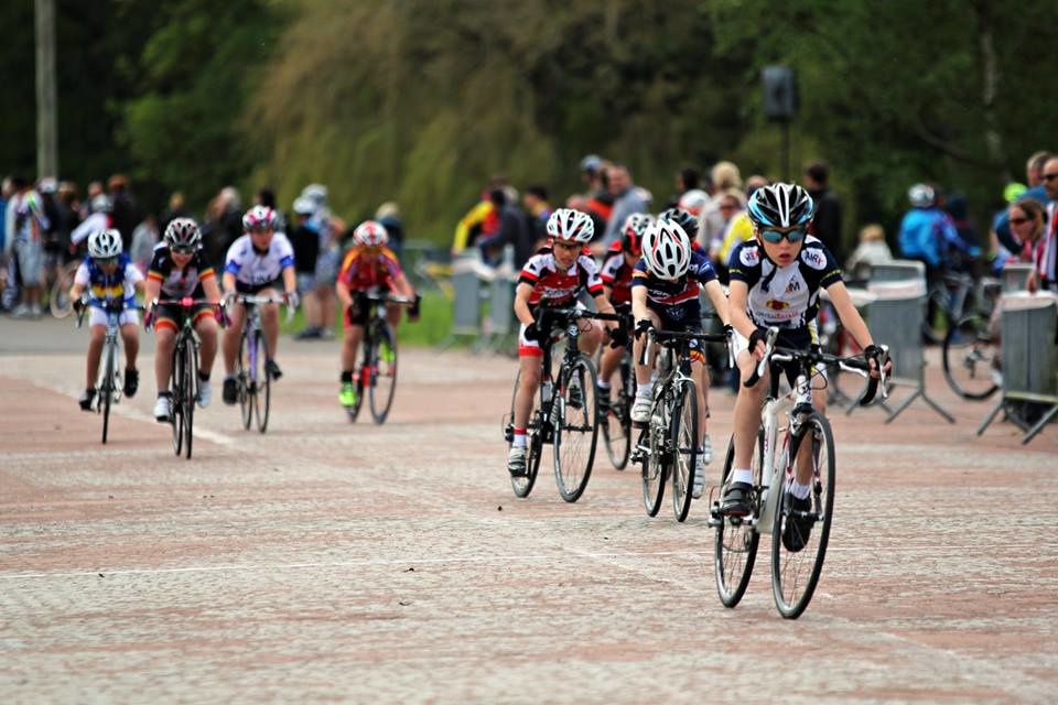
[[[334,291],[345,311],[345,341],[342,345],[342,388],[338,402],[343,406],[356,405],[356,387],[353,384],[353,368],[356,366],[356,351],[364,338],[364,327],[370,311],[368,294],[389,290],[398,296],[414,299],[408,308],[408,319],[419,319],[419,296],[408,282],[397,254],[388,247],[389,235],[386,228],[375,220],[365,220],[353,231],[353,248],[346,252],[338,271],[338,281]],[[400,305],[386,304],[386,319],[393,334],[400,323]],[[392,359],[386,360],[392,362]]]

